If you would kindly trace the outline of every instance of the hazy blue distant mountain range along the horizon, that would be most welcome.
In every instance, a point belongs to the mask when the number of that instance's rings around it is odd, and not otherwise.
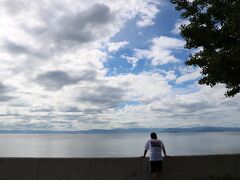
[[[116,133],[194,133],[194,132],[240,132],[240,127],[190,127],[190,128],[130,128],[91,129],[81,131],[51,130],[0,130],[0,134],[116,134]]]

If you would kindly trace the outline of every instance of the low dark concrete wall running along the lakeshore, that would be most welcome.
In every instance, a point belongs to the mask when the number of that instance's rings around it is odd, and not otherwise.
[[[162,180],[240,179],[240,155],[178,156],[164,161]],[[142,158],[0,158],[0,180],[150,180]]]

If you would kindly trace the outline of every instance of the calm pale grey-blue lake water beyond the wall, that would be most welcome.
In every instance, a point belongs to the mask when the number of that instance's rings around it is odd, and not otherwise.
[[[149,134],[0,134],[0,157],[136,157]],[[240,153],[240,132],[159,133],[169,155]]]

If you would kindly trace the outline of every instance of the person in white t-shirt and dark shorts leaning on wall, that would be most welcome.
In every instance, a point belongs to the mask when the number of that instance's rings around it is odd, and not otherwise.
[[[151,139],[149,139],[145,145],[145,150],[143,157],[146,157],[146,154],[150,150],[150,166],[151,166],[151,176],[152,180],[157,180],[159,174],[162,170],[162,151],[165,158],[167,157],[164,144],[161,140],[157,139],[157,134],[155,132],[151,133]]]

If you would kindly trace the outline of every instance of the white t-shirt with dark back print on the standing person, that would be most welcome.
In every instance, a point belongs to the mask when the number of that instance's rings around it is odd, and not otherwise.
[[[145,145],[145,150],[150,149],[150,161],[162,161],[162,150],[165,149],[161,140],[149,139]]]

